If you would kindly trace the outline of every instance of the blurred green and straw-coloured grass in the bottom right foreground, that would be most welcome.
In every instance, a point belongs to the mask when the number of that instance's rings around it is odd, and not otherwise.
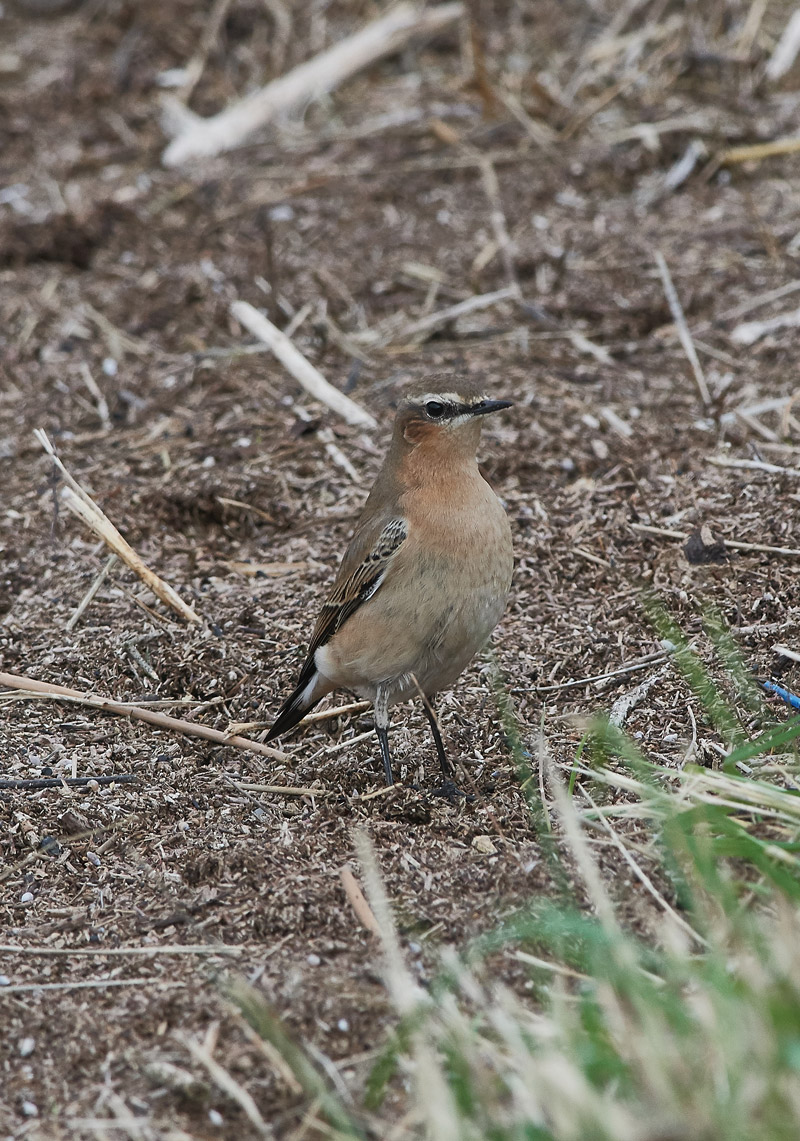
[[[364,835],[356,837],[397,1012],[363,1106],[348,1103],[325,1068],[289,1042],[262,997],[242,986],[232,993],[294,1071],[325,1135],[800,1136],[800,718],[763,728],[769,714],[729,632],[712,616],[706,633],[744,707],[740,718],[669,615],[648,607],[725,742],[720,768],[655,764],[598,719],[567,787],[542,738],[533,752],[555,808],[550,831],[546,807],[533,802],[530,753],[501,688],[498,704],[538,839],[558,872],[556,897],[532,900],[462,954],[445,952],[437,980],[423,989],[405,964],[374,852]],[[760,731],[748,734],[753,719]],[[631,818],[648,831],[646,855],[657,857],[657,875],[641,866],[641,842],[632,844],[615,826]],[[636,890],[657,905],[663,921],[654,945],[623,929],[587,824],[614,844]],[[593,914],[575,906],[565,866],[582,880]],[[656,880],[668,884],[671,903]],[[498,952],[530,970],[530,997],[493,979],[488,956]],[[397,1078],[407,1099],[399,1122],[382,1109]]]

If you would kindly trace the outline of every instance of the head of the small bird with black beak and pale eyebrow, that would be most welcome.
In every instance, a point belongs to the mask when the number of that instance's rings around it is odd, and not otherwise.
[[[509,408],[511,400],[495,400],[486,386],[469,377],[438,374],[410,385],[401,397],[395,427],[406,444],[435,450],[471,451],[478,446],[480,420],[488,412]]]

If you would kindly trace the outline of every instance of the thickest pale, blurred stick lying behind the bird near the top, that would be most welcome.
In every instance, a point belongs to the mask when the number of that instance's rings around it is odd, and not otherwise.
[[[241,146],[253,131],[278,115],[318,99],[377,59],[397,51],[414,37],[433,35],[462,14],[462,3],[443,3],[427,9],[399,3],[355,35],[300,64],[218,115],[185,123],[181,133],[164,151],[162,162],[165,167],[178,167],[191,159]]]

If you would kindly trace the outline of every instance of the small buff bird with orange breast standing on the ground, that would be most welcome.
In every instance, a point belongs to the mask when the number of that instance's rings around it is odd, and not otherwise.
[[[292,729],[325,694],[349,689],[374,704],[390,785],[389,707],[419,694],[445,779],[452,777],[433,699],[506,609],[511,528],[476,452],[482,418],[510,406],[449,374],[404,390],[386,460],[267,741]]]

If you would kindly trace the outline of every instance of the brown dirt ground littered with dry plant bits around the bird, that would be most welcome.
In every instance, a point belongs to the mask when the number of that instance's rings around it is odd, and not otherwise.
[[[568,766],[587,717],[652,679],[627,729],[655,760],[713,763],[719,742],[664,666],[644,585],[709,661],[701,601],[718,606],[760,677],[800,688],[800,665],[774,649],[800,650],[797,327],[752,343],[735,332],[797,308],[800,157],[719,161],[797,130],[800,68],[765,79],[792,6],[770,3],[754,27],[749,3],[661,0],[628,16],[576,0],[478,7],[475,42],[442,33],[301,122],[165,170],[159,76],[189,60],[210,3],[89,0],[50,19],[3,3],[2,670],[161,702],[224,730],[268,723],[380,463],[394,395],[455,369],[515,400],[486,423],[482,464],[516,550],[494,653],[534,751],[543,722]],[[192,108],[213,113],[379,8],[234,0]],[[485,83],[475,81],[480,41]],[[674,164],[693,143],[696,163],[679,179]],[[519,302],[476,309],[427,339],[403,332],[509,280]],[[347,427],[269,353],[248,351],[235,299],[291,324],[378,430]],[[199,626],[118,565],[67,628],[107,551],[57,510],[35,428],[196,608]],[[706,535],[690,553],[716,561],[690,561],[680,536],[703,525],[757,549],[709,550]],[[221,996],[228,971],[261,988],[357,1098],[389,1009],[375,946],[339,879],[353,827],[374,840],[421,978],[438,948],[463,946],[550,889],[491,673],[477,661],[442,701],[471,792],[454,804],[434,794],[435,754],[411,707],[393,734],[402,787],[365,799],[381,788],[365,715],[316,722],[281,743],[288,760],[269,761],[0,695],[3,777],[135,777],[0,792],[1,938],[25,948],[0,952],[0,974],[13,988],[43,985],[0,990],[0,1133],[258,1135],[191,1038],[213,1049],[276,1136],[301,1135],[306,1103]],[[657,907],[613,844],[593,843],[628,921],[657,938]],[[102,954],[176,945],[197,949]],[[510,955],[493,969],[527,985]],[[177,1090],[163,1062],[196,1085]],[[387,1114],[402,1111],[398,1086]]]

